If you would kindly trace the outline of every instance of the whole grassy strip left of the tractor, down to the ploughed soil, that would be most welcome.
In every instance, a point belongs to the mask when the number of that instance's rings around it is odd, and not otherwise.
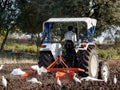
[[[0,45],[2,43],[3,37],[0,37]],[[31,43],[33,42],[33,43]],[[10,62],[25,62],[38,60],[37,46],[34,41],[29,39],[10,39],[8,38],[5,46],[4,52],[0,52],[0,61],[10,61]]]

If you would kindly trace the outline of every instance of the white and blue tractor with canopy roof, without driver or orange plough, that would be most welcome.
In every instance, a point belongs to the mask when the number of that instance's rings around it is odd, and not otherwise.
[[[82,77],[91,76],[94,78],[109,78],[109,66],[106,62],[98,60],[94,33],[97,20],[89,17],[84,18],[50,18],[43,22],[43,32],[41,33],[41,46],[38,65],[39,67],[49,67],[56,58],[62,57],[68,67],[81,68],[84,72],[78,74]],[[69,61],[73,59],[72,54],[67,54],[64,48],[64,34],[67,26],[72,25],[77,35],[75,51],[77,62],[75,67],[70,66]],[[57,62],[55,68],[61,67]],[[59,70],[59,69],[57,69]],[[74,69],[72,69],[74,70]]]

